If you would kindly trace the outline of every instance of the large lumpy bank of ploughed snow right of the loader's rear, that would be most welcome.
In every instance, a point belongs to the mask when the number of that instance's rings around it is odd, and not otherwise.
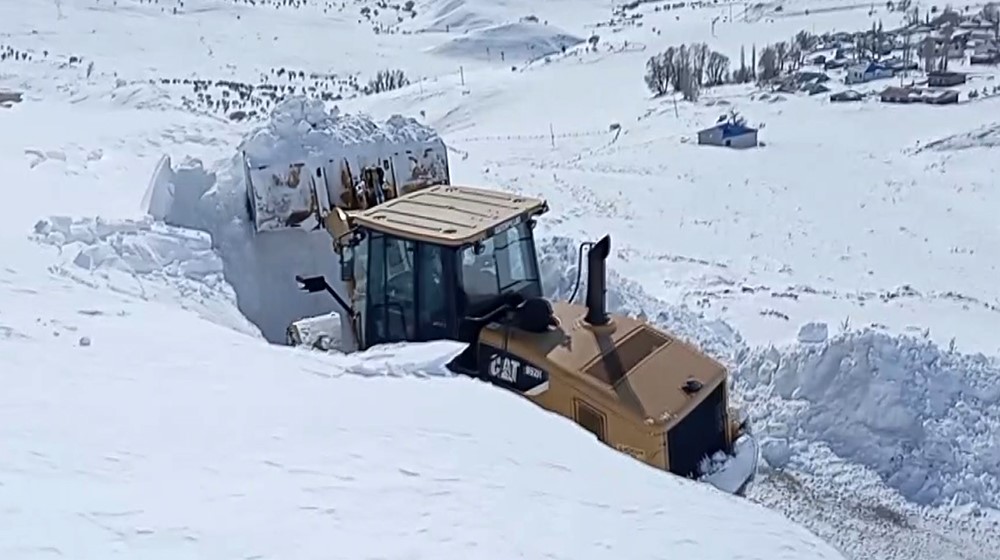
[[[764,433],[822,442],[919,504],[1000,506],[1000,367],[982,355],[864,331],[749,352],[737,378]]]

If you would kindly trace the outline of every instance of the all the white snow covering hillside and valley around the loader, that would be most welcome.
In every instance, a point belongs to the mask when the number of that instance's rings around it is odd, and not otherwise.
[[[227,116],[274,106],[232,84],[271,84],[417,117],[453,149],[455,182],[546,197],[553,295],[576,244],[610,232],[611,307],[731,366],[769,463],[751,500],[851,559],[995,558],[1000,97],[651,99],[644,65],[669,45],[738,64],[799,30],[902,16],[649,3],[629,12],[642,26],[611,27],[611,3],[537,4],[0,1],[0,91],[24,97],[0,106],[0,556],[836,557],[439,379],[447,345],[268,346],[262,331],[332,305],[283,271],[335,274],[323,234],[249,235],[237,146],[261,124]],[[572,44],[592,33],[597,52]],[[414,83],[357,95],[386,68]],[[730,107],[765,146],[695,145]],[[186,210],[169,224],[143,205],[164,155],[157,181]]]

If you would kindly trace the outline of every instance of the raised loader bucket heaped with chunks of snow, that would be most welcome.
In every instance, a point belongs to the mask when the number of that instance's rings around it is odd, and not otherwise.
[[[304,97],[279,103],[239,150],[256,231],[318,226],[365,167],[382,169],[400,193],[450,181],[447,148],[434,130],[400,115],[383,123],[342,115]]]

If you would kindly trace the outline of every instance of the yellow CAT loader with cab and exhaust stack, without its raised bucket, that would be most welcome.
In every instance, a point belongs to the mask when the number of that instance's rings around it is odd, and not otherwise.
[[[313,191],[330,186],[319,169],[303,176]],[[296,276],[340,312],[294,321],[289,344],[352,352],[465,343],[448,363],[455,374],[522,395],[648,465],[745,494],[759,451],[749,419],[730,404],[726,368],[645,321],[608,312],[609,236],[581,246],[584,302],[574,302],[582,278],[568,301],[553,302],[543,297],[534,237],[546,201],[446,178],[388,181],[375,166],[362,166],[358,181],[345,176],[342,190],[314,193],[305,208],[333,240],[338,287]]]

